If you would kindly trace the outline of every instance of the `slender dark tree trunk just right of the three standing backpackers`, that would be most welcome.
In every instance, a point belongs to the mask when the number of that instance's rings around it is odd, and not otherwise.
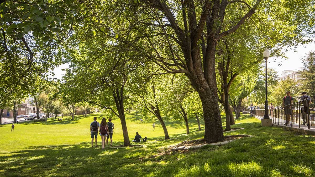
[[[129,140],[128,130],[127,130],[124,105],[123,105],[123,87],[124,86],[121,86],[120,91],[118,90],[118,88],[116,88],[113,91],[113,96],[115,99],[116,108],[118,111],[120,123],[121,123],[122,129],[123,129],[123,145],[124,146],[130,146],[130,140]]]

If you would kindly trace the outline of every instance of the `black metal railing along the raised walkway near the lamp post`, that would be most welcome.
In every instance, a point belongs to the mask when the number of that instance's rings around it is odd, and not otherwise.
[[[308,100],[301,100],[292,104],[285,105],[276,109],[269,109],[269,117],[272,119],[273,124],[292,126],[308,125],[308,129],[312,124],[315,124],[315,108],[309,108],[307,105]],[[255,109],[254,115],[263,119],[265,109]]]

